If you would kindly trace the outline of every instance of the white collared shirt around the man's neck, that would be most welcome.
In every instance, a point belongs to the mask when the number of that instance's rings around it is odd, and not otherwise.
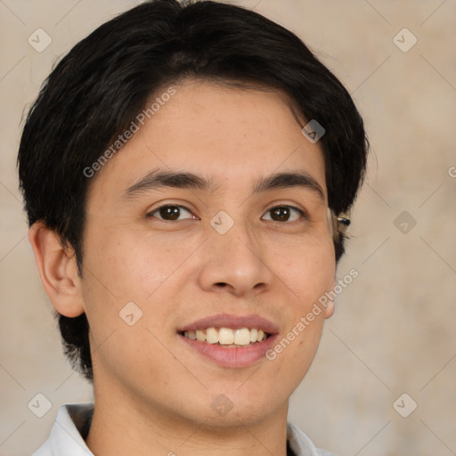
[[[51,435],[32,456],[94,456],[84,441],[93,414],[93,403],[62,405]],[[287,423],[287,440],[295,456],[334,456],[316,448],[310,438],[290,422]]]

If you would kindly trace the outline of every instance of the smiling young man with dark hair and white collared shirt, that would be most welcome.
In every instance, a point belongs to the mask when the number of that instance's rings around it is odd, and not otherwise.
[[[19,151],[29,240],[94,405],[44,455],[325,455],[287,422],[368,142],[288,30],[155,0],[62,59]]]

